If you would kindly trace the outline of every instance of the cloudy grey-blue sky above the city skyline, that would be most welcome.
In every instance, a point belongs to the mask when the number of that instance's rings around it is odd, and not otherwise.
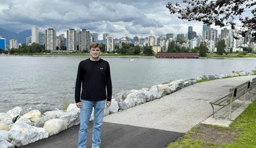
[[[171,0],[171,2],[181,0]],[[68,28],[110,33],[115,38],[166,36],[188,33],[188,26],[202,34],[201,22],[179,20],[166,8],[168,1],[153,0],[0,0],[0,28],[20,32],[36,25],[52,27],[57,35]],[[212,26],[213,28],[218,27]],[[218,32],[220,33],[220,32]]]

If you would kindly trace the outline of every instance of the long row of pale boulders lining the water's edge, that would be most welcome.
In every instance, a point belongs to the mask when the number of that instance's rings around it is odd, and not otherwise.
[[[225,75],[221,73],[204,75],[197,78],[164,82],[151,88],[120,91],[113,96],[111,106],[105,108],[104,116],[160,99],[198,82],[255,74],[256,70],[232,72]],[[93,120],[93,112],[90,120]],[[0,147],[24,146],[58,134],[79,123],[80,110],[76,107],[76,104],[68,105],[67,111],[42,104],[27,108],[15,107],[13,110],[0,113]]]

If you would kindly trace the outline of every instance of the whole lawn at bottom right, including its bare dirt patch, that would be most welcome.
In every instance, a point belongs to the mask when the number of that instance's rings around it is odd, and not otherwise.
[[[246,108],[245,111],[230,124],[229,127],[218,127],[218,126],[208,126],[208,137],[202,137],[201,139],[195,139],[195,137],[200,137],[199,130],[200,126],[193,127],[191,131],[185,134],[184,137],[168,144],[167,148],[175,147],[256,147],[256,102],[253,102]],[[228,133],[228,134],[227,134]],[[220,136],[216,137],[217,134]],[[221,134],[226,134],[227,136],[221,137]],[[215,136],[215,137],[214,137]],[[229,139],[227,139],[229,138]],[[202,140],[204,139],[204,140]],[[208,141],[207,141],[208,139]],[[209,140],[210,139],[210,140]],[[216,140],[218,139],[218,140]],[[232,140],[230,140],[232,139]],[[223,141],[221,141],[223,140]],[[229,140],[229,143],[225,143],[225,140]],[[209,142],[213,141],[213,142]],[[221,143],[221,144],[216,144]]]

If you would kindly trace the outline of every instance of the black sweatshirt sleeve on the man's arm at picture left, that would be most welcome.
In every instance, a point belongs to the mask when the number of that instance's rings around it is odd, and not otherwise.
[[[76,88],[74,92],[74,99],[76,103],[81,102],[80,101],[80,92],[81,92],[81,83],[82,83],[82,76],[83,76],[83,71],[82,71],[82,62],[79,63],[78,69],[77,69],[77,76],[76,76]]]

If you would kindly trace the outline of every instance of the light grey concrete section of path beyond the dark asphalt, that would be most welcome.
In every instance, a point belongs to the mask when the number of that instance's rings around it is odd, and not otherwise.
[[[164,98],[108,115],[105,122],[185,133],[213,113],[210,101],[224,96],[232,86],[256,76],[201,82]]]

